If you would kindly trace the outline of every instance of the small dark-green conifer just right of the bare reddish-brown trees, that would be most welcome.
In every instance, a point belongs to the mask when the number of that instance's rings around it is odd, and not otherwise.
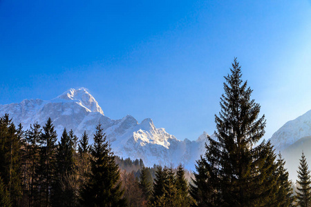
[[[152,176],[150,170],[144,166],[142,166],[142,169],[140,170],[139,184],[144,200],[149,201],[152,190]]]

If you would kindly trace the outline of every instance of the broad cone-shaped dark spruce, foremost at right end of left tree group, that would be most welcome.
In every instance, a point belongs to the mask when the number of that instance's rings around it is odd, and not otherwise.
[[[124,189],[120,182],[120,170],[115,164],[102,125],[96,127],[91,148],[91,174],[82,192],[84,206],[125,206]]]

